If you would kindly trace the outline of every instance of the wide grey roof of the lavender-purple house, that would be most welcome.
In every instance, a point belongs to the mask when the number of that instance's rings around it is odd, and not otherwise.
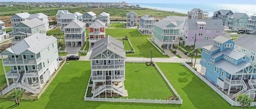
[[[188,29],[198,29],[198,24],[197,22],[205,22],[206,26],[205,29],[217,29],[217,30],[222,30],[224,29],[223,21],[222,20],[205,20],[205,19],[189,19],[186,21],[188,25]]]

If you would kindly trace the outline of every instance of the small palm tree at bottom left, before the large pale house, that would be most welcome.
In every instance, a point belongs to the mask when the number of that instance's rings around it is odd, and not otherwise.
[[[20,105],[20,99],[23,96],[25,92],[20,90],[20,89],[14,89],[13,91],[11,91],[7,97],[15,102],[15,105]]]

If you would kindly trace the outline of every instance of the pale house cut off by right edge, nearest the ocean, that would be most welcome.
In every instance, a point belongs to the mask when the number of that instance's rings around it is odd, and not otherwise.
[[[256,14],[247,20],[245,33],[256,34]]]

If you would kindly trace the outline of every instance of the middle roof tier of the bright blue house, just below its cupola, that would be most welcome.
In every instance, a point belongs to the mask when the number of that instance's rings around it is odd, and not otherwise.
[[[213,54],[212,57],[213,58],[216,58],[216,57],[219,57],[221,55],[226,55],[226,56],[229,56],[235,60],[238,60],[238,59],[241,59],[242,57],[245,56],[245,54],[242,54],[240,52],[236,52],[235,50],[230,50],[230,49],[226,49],[222,52],[218,52],[216,54]]]

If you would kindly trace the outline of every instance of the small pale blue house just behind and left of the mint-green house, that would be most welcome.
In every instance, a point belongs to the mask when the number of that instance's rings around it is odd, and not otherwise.
[[[152,34],[153,25],[156,21],[157,20],[150,15],[140,17],[140,31],[144,34]]]

